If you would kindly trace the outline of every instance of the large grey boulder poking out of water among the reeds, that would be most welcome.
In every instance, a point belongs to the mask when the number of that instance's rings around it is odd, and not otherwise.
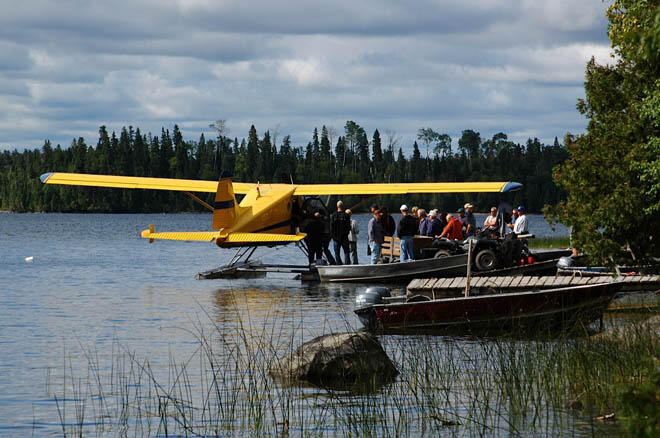
[[[273,377],[331,389],[377,387],[398,373],[378,338],[368,332],[319,336],[270,369]]]

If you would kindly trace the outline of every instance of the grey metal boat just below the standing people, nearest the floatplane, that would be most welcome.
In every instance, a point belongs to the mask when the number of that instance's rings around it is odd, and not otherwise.
[[[455,277],[463,275],[467,254],[437,259],[422,259],[403,263],[377,265],[318,265],[322,282],[407,283],[415,278]]]

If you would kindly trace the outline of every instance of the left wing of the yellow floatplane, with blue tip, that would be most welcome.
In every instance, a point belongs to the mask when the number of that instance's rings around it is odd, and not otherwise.
[[[69,186],[114,187],[119,189],[174,190],[180,192],[215,193],[217,181],[194,179],[148,178],[141,176],[93,175],[86,173],[52,172],[41,175],[44,184]],[[234,193],[246,194],[255,187],[252,183],[232,182]]]

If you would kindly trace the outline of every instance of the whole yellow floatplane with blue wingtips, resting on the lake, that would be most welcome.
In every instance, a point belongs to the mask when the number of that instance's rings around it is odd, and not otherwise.
[[[154,226],[142,231],[142,237],[154,240],[215,242],[220,248],[241,248],[232,260],[250,257],[259,246],[277,246],[301,242],[305,234],[297,226],[314,212],[327,211],[319,196],[325,195],[408,195],[413,193],[504,193],[520,189],[516,182],[425,182],[371,184],[260,184],[172,178],[148,178],[81,173],[45,173],[44,184],[113,187],[122,189],[173,190],[184,192],[213,212],[210,231],[156,232]],[[209,205],[196,193],[215,193]],[[245,195],[237,202],[236,194]]]

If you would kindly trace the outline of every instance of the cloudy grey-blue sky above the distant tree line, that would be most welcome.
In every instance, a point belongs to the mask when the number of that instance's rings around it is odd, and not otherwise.
[[[552,143],[584,132],[586,62],[612,62],[600,0],[0,0],[0,150],[98,129],[186,140],[472,129]],[[389,137],[386,134],[389,133]]]

